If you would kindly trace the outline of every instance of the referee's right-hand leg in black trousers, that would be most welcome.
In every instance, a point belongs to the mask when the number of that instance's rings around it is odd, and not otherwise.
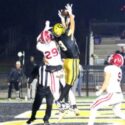
[[[44,118],[43,118],[43,121],[44,123],[49,123],[49,118],[51,116],[51,111],[52,111],[52,104],[53,104],[53,95],[50,91],[49,88],[47,88],[46,90],[46,111],[45,111],[45,115],[44,115]]]

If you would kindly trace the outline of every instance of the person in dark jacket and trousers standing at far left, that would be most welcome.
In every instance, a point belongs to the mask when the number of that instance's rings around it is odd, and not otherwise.
[[[20,86],[23,72],[21,69],[21,62],[16,61],[16,68],[12,68],[8,77],[8,99],[11,99],[12,88],[14,86],[16,90],[16,99],[20,98]]]

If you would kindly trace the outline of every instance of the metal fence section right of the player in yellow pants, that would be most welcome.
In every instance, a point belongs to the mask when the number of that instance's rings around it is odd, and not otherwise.
[[[125,66],[122,67],[122,71],[121,88],[125,91]],[[98,87],[102,85],[104,80],[104,66],[85,66],[83,73],[83,90],[86,96],[89,96],[90,92],[97,91]]]

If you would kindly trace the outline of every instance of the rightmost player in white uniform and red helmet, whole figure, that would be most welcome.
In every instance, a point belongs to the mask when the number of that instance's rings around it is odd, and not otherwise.
[[[112,105],[114,114],[121,119],[125,119],[125,114],[121,112],[123,93],[120,87],[122,79],[121,66],[124,64],[123,56],[120,54],[111,55],[108,60],[109,65],[104,68],[104,82],[96,92],[99,96],[91,105],[88,125],[93,125],[96,112],[104,106]]]

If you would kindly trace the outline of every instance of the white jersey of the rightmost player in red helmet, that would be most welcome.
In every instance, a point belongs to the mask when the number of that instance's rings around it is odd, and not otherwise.
[[[121,68],[115,65],[108,65],[104,68],[104,72],[111,74],[109,85],[107,87],[107,92],[121,92],[121,87],[120,87],[122,79]]]

